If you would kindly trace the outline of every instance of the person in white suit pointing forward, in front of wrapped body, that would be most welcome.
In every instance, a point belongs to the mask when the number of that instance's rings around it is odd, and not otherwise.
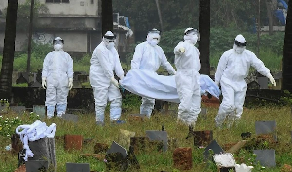
[[[198,114],[201,112],[200,92],[200,52],[195,46],[200,41],[197,29],[187,28],[184,31],[184,42],[181,41],[174,48],[174,64],[177,68],[175,83],[180,104],[178,107],[178,121],[195,126]]]

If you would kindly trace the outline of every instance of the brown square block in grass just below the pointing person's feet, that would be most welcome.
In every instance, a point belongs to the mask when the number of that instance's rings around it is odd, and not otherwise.
[[[195,146],[208,146],[213,140],[213,131],[205,130],[205,131],[194,131],[194,145]]]

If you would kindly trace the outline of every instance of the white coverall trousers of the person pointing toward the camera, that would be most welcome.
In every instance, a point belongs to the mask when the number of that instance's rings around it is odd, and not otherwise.
[[[200,74],[196,70],[178,69],[175,82],[180,99],[178,120],[195,124],[201,112]]]

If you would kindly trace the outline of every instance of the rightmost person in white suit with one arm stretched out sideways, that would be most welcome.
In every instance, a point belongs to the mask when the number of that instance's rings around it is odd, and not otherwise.
[[[271,83],[276,86],[270,70],[256,57],[256,54],[246,50],[246,45],[245,38],[241,34],[237,35],[233,49],[224,52],[218,62],[215,83],[221,85],[223,101],[215,117],[217,127],[222,127],[226,117],[231,123],[241,118],[247,91],[247,84],[244,79],[248,75],[250,66],[262,75],[267,76]],[[228,127],[231,123],[228,124]]]

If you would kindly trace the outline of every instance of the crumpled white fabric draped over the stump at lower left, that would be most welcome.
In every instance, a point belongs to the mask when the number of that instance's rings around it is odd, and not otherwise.
[[[23,149],[25,149],[24,160],[27,161],[29,157],[33,157],[34,154],[28,146],[28,141],[36,141],[41,138],[54,138],[56,132],[56,124],[52,123],[49,127],[45,122],[40,120],[35,121],[31,125],[19,125],[15,132],[20,135],[20,140],[23,143]],[[23,129],[19,132],[19,130]]]

